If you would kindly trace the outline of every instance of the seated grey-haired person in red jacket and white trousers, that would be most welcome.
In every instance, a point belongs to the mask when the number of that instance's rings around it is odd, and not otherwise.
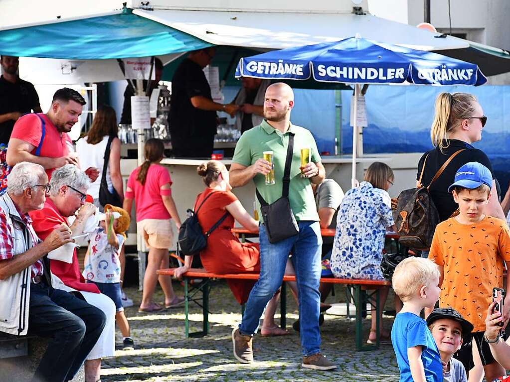
[[[93,204],[85,202],[90,185],[88,176],[78,167],[66,165],[53,172],[49,185],[49,198],[46,198],[44,207],[30,213],[37,235],[44,239],[56,227],[67,226],[67,218],[77,211],[76,219],[69,228],[72,236],[82,234],[87,219],[96,210]],[[85,362],[85,381],[95,382],[99,380],[101,358],[112,357],[115,352],[115,304],[108,296],[99,293],[94,284],[85,283],[80,273],[76,249],[68,247],[67,253],[63,252],[58,256],[51,252],[48,254],[53,287],[81,294],[87,303],[102,310],[107,317],[103,333]],[[70,263],[66,257],[72,259]]]

